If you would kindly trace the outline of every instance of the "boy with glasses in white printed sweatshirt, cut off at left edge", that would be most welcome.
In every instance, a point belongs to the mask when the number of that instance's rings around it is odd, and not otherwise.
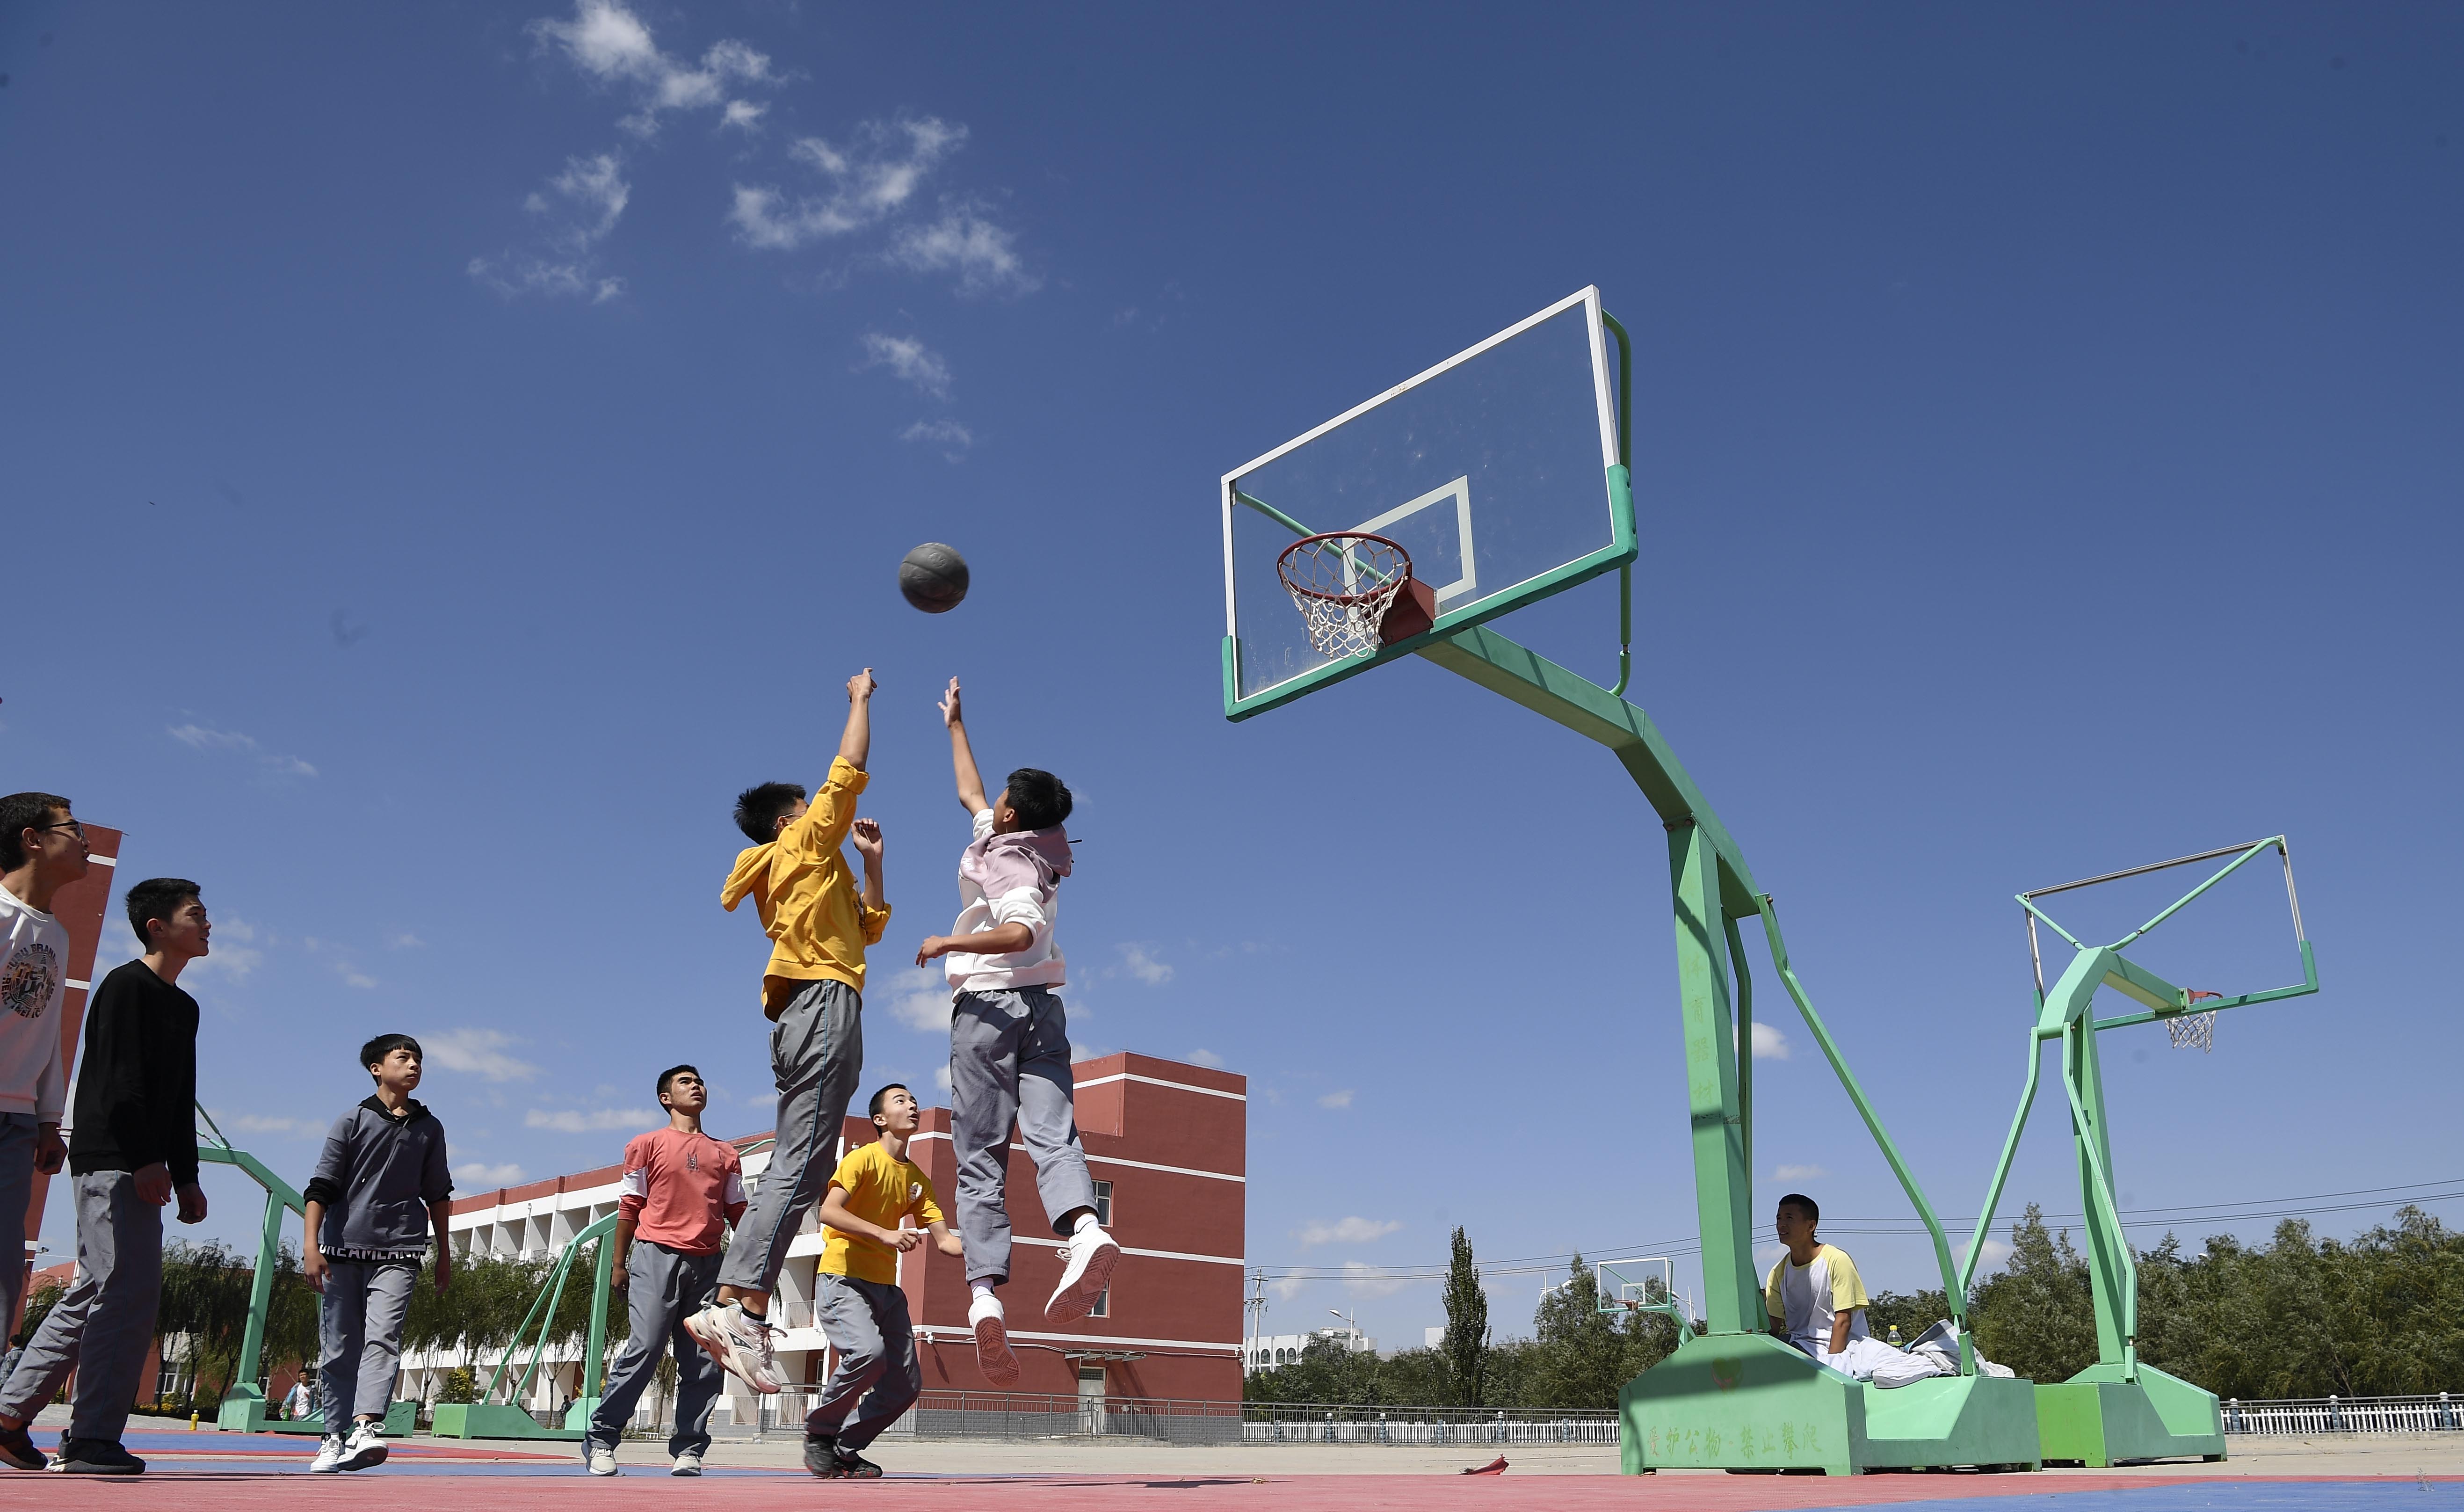
[[[69,928],[52,894],[89,867],[86,830],[57,793],[0,798],[0,1325],[17,1317],[25,1285],[25,1209],[34,1172],[59,1170],[59,1015],[69,983]],[[5,1379],[5,1377],[0,1377]],[[0,1436],[0,1463],[20,1463]]]

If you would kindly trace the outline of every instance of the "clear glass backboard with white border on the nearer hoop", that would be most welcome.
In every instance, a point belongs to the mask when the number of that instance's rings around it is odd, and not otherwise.
[[[1225,473],[1225,714],[1247,719],[1634,559],[1599,291],[1584,288]],[[1326,657],[1274,571],[1358,529],[1437,591],[1427,635]]]

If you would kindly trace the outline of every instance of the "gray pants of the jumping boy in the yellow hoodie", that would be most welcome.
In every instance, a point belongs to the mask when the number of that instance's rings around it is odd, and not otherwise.
[[[865,1000],[848,983],[808,983],[771,1024],[779,1140],[727,1246],[719,1285],[776,1290],[786,1246],[838,1170],[838,1133],[865,1074]]]

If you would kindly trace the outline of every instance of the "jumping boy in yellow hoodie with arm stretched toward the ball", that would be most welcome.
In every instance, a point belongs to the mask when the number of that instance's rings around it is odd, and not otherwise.
[[[821,1199],[848,1098],[865,1074],[865,946],[880,943],[890,923],[882,827],[855,818],[872,749],[872,667],[848,677],[848,729],[811,803],[793,783],[761,783],[737,795],[737,827],[752,847],[737,855],[719,889],[727,911],[754,899],[761,933],[771,938],[761,1012],[771,1019],[779,1140],[727,1246],[719,1295],[685,1317],[685,1332],[754,1391],[781,1386],[769,1295],[786,1246]],[[850,835],[865,859],[862,891],[838,850]]]

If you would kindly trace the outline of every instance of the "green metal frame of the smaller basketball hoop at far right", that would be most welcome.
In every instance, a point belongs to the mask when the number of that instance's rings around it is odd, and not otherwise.
[[[2301,951],[2301,980],[2289,987],[2267,987],[2232,997],[2218,992],[2193,992],[2176,987],[2154,970],[2122,953],[2146,938],[2156,926],[2173,919],[2208,894],[2218,882],[2232,877],[2250,862],[2277,852],[2284,862],[2284,901],[2292,911],[2294,946]],[[2109,946],[2089,946],[2062,928],[2038,899],[2057,891],[2144,877],[2173,867],[2190,867],[2232,857],[2213,877],[2166,904],[2154,919],[2129,931]],[[2284,835],[2269,835],[2250,845],[2230,845],[2200,855],[2131,867],[2104,877],[2040,887],[2018,894],[2018,906],[2028,916],[2028,953],[2035,958],[2035,1024],[2028,1029],[2028,1079],[2020,1086],[2018,1111],[2011,1116],[2011,1133],[2003,1138],[2001,1160],[1986,1184],[1986,1202],[1976,1214],[1976,1234],[1969,1239],[1969,1258],[1959,1268],[1959,1290],[1966,1293],[1984,1256],[1986,1234],[1993,1229],[1993,1212],[2001,1204],[2003,1184],[2011,1180],[2011,1162],[2018,1155],[2020,1133],[2028,1128],[2028,1111],[2035,1106],[2043,1079],[2045,1042],[2062,1047],[2062,1101],[2070,1106],[2072,1155],[2080,1165],[2080,1204],[2087,1214],[2082,1239],[2087,1249],[2089,1293],[2097,1305],[2097,1364],[2070,1381],[2045,1381],[2038,1391],[2038,1423],[2048,1460],[2080,1460],[2085,1465],[2112,1465],[2122,1460],[2161,1458],[2225,1458],[2225,1428],[2215,1394],[2139,1362],[2139,1263],[2131,1256],[2129,1234],[2122,1229],[2122,1209],[2114,1202],[2114,1150],[2104,1118],[2104,1066],[2097,1056],[2097,1034],[2104,1029],[2129,1029],[2178,1019],[2193,1012],[2223,1012],[2255,1002],[2279,1002],[2306,997],[2319,990],[2319,955],[2301,928],[2301,899],[2294,891],[2294,857]],[[2048,987],[2043,951],[2038,948],[2038,923],[2062,936],[2075,955],[2060,978]],[[2094,1017],[2094,997],[2112,987],[2144,1012],[2124,1012],[2107,1019]]]

